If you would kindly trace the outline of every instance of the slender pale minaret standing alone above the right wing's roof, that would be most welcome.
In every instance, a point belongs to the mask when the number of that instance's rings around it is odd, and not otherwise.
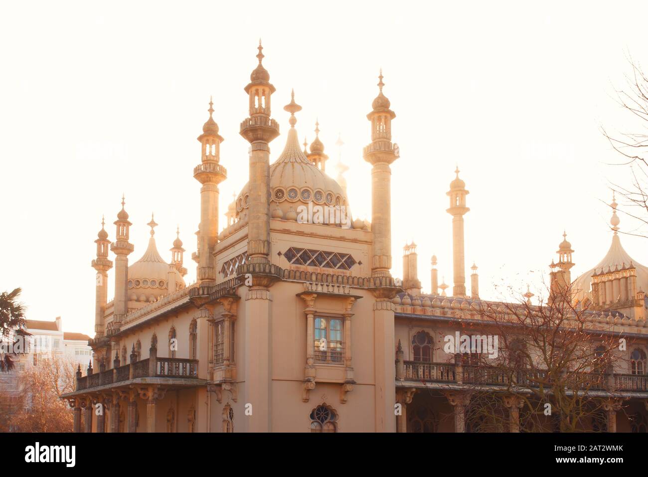
[[[450,182],[450,207],[446,212],[452,215],[452,266],[454,286],[452,296],[466,296],[466,267],[463,251],[463,215],[470,209],[466,207],[466,183],[459,179],[459,167],[454,171],[457,177]]]

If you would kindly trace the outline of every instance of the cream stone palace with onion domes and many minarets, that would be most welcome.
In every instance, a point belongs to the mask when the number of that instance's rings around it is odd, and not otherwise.
[[[148,248],[129,264],[132,224],[123,197],[113,237],[102,221],[92,261],[93,357],[78,370],[76,390],[64,395],[74,408],[76,432],[471,430],[465,414],[473,390],[469,364],[446,353],[443,340],[466,323],[484,333],[489,327],[480,313],[474,264],[470,290],[466,286],[469,191],[459,170],[447,192],[452,291],[439,284],[432,257],[432,290],[424,294],[415,244],[404,248],[402,279],[390,272],[390,166],[399,147],[392,141],[396,114],[383,93],[382,72],[364,148],[372,167],[369,222],[347,214],[347,184],[341,174],[327,174],[329,157],[318,135],[309,148],[299,144],[301,106],[294,93],[284,106],[290,113],[285,145],[271,163],[270,143],[280,127],[272,119],[275,87],[260,43],[257,58],[244,87],[248,117],[240,122],[250,143],[249,181],[227,211],[218,210],[228,159],[220,156],[224,138],[211,101],[198,136],[193,176],[200,183],[200,226],[191,255],[196,283],[185,283],[179,231],[167,262],[157,250],[152,217]],[[588,310],[593,324],[628,337],[627,359],[606,375],[614,391],[602,386],[596,392],[609,401],[608,430],[645,432],[648,268],[621,247],[616,203],[612,208],[612,246],[576,279],[573,303]],[[304,220],[309,209],[314,212]],[[572,283],[572,253],[565,237],[551,264],[552,287]],[[115,283],[111,301],[109,279]],[[501,384],[486,386],[497,393]],[[511,413],[505,430],[521,430],[518,402],[503,402]]]

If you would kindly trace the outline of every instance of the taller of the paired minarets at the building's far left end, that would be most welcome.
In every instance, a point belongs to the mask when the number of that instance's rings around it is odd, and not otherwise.
[[[128,312],[128,255],[134,250],[133,244],[128,242],[129,230],[132,224],[128,222],[128,213],[124,210],[126,201],[122,195],[122,209],[117,213],[114,224],[117,228],[115,242],[110,245],[110,250],[115,257],[115,300],[113,301],[113,327],[119,327]]]

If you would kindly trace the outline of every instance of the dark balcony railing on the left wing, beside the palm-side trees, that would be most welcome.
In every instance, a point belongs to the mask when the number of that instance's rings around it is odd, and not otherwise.
[[[167,377],[167,378],[198,378],[198,360],[184,358],[154,358],[154,369],[150,367],[150,359],[139,360],[124,364],[115,369],[106,369],[100,373],[76,378],[76,391],[97,388],[109,384],[119,384],[134,378]],[[132,369],[131,369],[132,367]]]

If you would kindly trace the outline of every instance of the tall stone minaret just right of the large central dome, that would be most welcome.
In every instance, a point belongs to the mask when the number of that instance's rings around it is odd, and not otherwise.
[[[367,114],[371,121],[371,144],[365,146],[363,156],[371,168],[371,234],[373,257],[371,275],[389,277],[391,274],[391,168],[399,158],[399,147],[391,143],[391,120],[396,117],[389,109],[391,104],[382,94],[382,69],[378,76],[378,96],[373,100],[373,110]]]

